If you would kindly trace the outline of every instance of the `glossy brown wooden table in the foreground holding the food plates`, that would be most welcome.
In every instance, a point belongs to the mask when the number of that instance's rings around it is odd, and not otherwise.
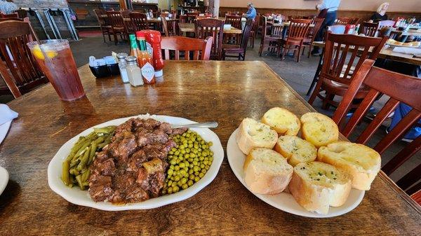
[[[281,106],[314,111],[264,62],[166,62],[163,82],[133,88],[119,77],[97,79],[79,69],[86,97],[60,102],[50,84],[13,100],[19,113],[0,145],[10,181],[0,196],[0,235],[420,235],[421,209],[385,174],[353,211],[305,218],[271,207],[234,176],[225,158],[218,176],[182,202],[143,211],[100,211],[64,200],[48,188],[47,166],[67,140],[107,120],[157,113],[216,120],[227,146],[245,117]]]

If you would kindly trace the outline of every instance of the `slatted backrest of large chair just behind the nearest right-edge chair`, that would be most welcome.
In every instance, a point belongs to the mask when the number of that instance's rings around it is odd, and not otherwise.
[[[354,71],[359,70],[366,58],[375,59],[386,40],[387,38],[328,32],[320,78],[349,85],[354,78]]]

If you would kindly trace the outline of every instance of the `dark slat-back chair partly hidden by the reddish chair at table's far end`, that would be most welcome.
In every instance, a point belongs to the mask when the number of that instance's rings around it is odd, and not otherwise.
[[[221,60],[222,41],[224,39],[224,21],[217,19],[202,19],[194,22],[194,31],[197,39],[213,38],[210,60]]]

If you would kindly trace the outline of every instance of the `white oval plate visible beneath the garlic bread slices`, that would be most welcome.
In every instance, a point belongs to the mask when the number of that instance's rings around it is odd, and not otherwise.
[[[244,160],[246,160],[246,155],[244,155],[241,152],[239,146],[237,146],[236,144],[237,132],[238,129],[231,134],[231,137],[229,137],[227,144],[227,158],[229,166],[231,167],[237,179],[239,179],[239,181],[243,183],[243,186],[250,190],[247,187],[246,183],[243,181],[243,164]],[[276,195],[262,195],[258,193],[253,194],[256,197],[259,197],[260,200],[262,200],[263,202],[266,202],[267,204],[271,205],[272,207],[276,207],[277,209],[281,209],[282,211],[289,212],[290,214],[314,218],[327,218],[333,216],[340,216],[357,207],[361,200],[363,200],[364,193],[365,191],[363,190],[357,190],[352,188],[351,193],[349,193],[347,202],[345,202],[345,204],[343,204],[341,207],[330,207],[329,213],[326,215],[321,215],[315,212],[307,211],[306,209],[301,207],[298,204],[298,202],[295,201],[293,195],[290,195],[290,193],[279,193]]]

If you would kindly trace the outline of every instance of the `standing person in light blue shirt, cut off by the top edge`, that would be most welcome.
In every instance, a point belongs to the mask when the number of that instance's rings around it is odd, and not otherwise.
[[[316,9],[319,11],[327,11],[325,20],[323,21],[323,24],[321,25],[321,28],[319,30],[319,33],[317,33],[316,38],[314,41],[322,41],[323,35],[325,32],[326,27],[333,25],[336,20],[336,11],[338,11],[338,7],[340,5],[340,0],[323,0],[321,4],[316,5]],[[312,55],[320,55],[320,48],[314,47],[312,50]]]

